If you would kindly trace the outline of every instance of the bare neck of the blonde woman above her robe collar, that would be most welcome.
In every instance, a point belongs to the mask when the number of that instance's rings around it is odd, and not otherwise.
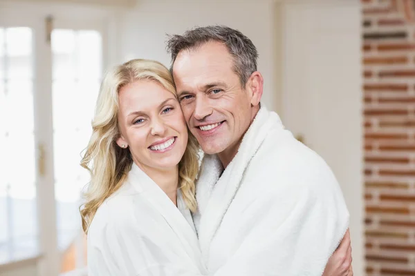
[[[172,199],[177,206],[178,166],[168,169],[150,168],[137,164]]]

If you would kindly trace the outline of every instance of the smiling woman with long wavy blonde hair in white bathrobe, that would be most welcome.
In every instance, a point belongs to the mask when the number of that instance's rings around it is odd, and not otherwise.
[[[201,275],[196,140],[169,71],[136,59],[107,73],[82,166],[89,276]]]

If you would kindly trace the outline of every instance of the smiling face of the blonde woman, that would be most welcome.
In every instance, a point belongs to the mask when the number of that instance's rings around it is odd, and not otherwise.
[[[187,127],[172,92],[156,81],[140,80],[122,87],[118,101],[118,146],[128,146],[144,171],[177,166],[187,146]]]

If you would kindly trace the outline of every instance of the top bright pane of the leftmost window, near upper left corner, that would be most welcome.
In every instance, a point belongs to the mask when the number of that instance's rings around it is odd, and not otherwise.
[[[32,32],[30,28],[6,29],[6,77],[32,78]]]

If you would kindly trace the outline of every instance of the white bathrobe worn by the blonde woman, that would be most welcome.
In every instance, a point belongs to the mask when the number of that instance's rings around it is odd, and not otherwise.
[[[122,188],[98,208],[87,243],[89,276],[205,274],[181,193],[177,208],[136,165]]]

